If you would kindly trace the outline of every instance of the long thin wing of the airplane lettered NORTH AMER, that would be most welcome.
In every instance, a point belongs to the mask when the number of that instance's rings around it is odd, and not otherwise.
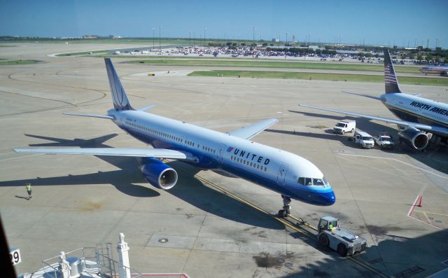
[[[370,116],[370,115],[364,115],[364,114],[360,114],[360,113],[353,113],[353,112],[348,112],[348,111],[342,111],[342,110],[336,110],[336,109],[328,109],[328,108],[324,108],[324,107],[318,107],[318,106],[311,106],[311,105],[305,105],[305,104],[299,104],[299,106],[302,107],[308,107],[308,108],[312,108],[312,109],[318,109],[318,110],[323,110],[323,111],[330,111],[330,112],[335,112],[335,113],[341,113],[341,114],[346,114],[346,115],[350,115],[350,116],[357,116],[360,118],[367,118],[370,120],[380,120],[382,122],[386,122],[386,123],[395,123],[396,125],[402,125],[405,127],[415,127],[419,130],[423,130],[426,132],[435,132],[438,134],[448,134],[448,129],[444,128],[444,127],[437,127],[435,125],[424,125],[421,123],[412,123],[412,122],[407,122],[406,120],[394,120],[391,118],[382,118],[382,117],[377,117],[377,116]]]

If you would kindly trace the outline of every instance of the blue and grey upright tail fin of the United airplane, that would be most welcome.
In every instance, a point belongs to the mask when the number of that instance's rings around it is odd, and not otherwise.
[[[118,78],[117,71],[113,67],[110,58],[104,58],[104,63],[106,64],[107,77],[109,78],[109,85],[111,86],[113,107],[116,110],[135,110],[132,108],[125,89],[121,84],[120,78]]]

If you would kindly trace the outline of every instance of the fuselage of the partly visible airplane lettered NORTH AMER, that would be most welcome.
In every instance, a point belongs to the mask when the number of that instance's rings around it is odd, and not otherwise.
[[[381,95],[380,98],[383,104],[401,120],[448,128],[448,104],[404,93],[388,93]]]

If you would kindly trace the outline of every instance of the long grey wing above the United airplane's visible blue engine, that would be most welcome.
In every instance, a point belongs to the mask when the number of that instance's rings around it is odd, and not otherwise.
[[[112,155],[137,158],[168,158],[190,160],[188,153],[165,148],[14,148],[16,153],[45,153],[66,155]]]

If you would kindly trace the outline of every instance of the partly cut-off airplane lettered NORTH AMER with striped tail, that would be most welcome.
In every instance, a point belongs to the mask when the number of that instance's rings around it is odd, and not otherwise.
[[[430,138],[428,137],[428,134],[433,134],[436,138],[435,141],[439,139],[445,144],[448,143],[448,104],[435,102],[430,99],[419,97],[418,95],[402,93],[398,85],[397,76],[395,75],[395,69],[393,69],[391,55],[388,50],[384,50],[384,83],[386,92],[379,97],[356,93],[351,94],[381,100],[387,109],[401,120],[305,104],[299,104],[299,106],[342,113],[370,120],[380,120],[386,123],[395,123],[400,128],[398,136],[417,150],[421,150],[428,146]]]

